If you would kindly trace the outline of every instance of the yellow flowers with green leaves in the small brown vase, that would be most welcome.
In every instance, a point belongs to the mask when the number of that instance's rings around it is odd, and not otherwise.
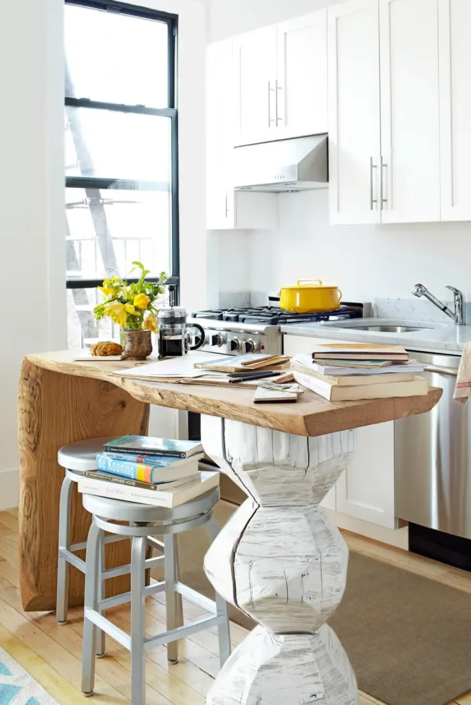
[[[111,276],[103,281],[103,286],[99,290],[104,294],[105,299],[101,304],[93,309],[94,317],[97,321],[108,317],[119,324],[127,331],[150,330],[157,331],[156,300],[163,294],[165,281],[168,276],[161,272],[157,283],[146,281],[149,269],[144,269],[142,262],[132,262],[134,269],[140,269],[139,281],[128,284],[127,281],[118,276]]]

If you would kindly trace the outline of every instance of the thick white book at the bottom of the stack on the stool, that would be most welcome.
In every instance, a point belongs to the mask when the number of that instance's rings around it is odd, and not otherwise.
[[[114,482],[103,482],[103,480],[96,480],[92,477],[83,477],[78,482],[78,491],[99,497],[121,499],[125,502],[172,508],[205,494],[205,492],[217,487],[218,484],[219,472],[201,471],[198,477],[172,482],[171,486],[169,483],[167,488],[163,490],[142,489]]]

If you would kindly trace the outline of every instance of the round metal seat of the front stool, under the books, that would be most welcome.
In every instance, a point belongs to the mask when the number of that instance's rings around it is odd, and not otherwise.
[[[211,510],[219,501],[219,487],[215,487],[178,507],[161,507],[137,502],[126,502],[111,497],[83,494],[84,508],[97,517],[123,522],[164,522],[196,517]]]

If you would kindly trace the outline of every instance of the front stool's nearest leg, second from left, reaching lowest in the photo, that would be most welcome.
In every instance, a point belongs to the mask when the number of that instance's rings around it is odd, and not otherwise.
[[[145,672],[145,607],[146,537],[134,537],[131,549],[131,705],[144,705]]]

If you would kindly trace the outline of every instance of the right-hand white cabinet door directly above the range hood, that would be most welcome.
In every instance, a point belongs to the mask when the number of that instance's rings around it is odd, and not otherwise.
[[[327,132],[327,11],[277,25],[278,139]]]

